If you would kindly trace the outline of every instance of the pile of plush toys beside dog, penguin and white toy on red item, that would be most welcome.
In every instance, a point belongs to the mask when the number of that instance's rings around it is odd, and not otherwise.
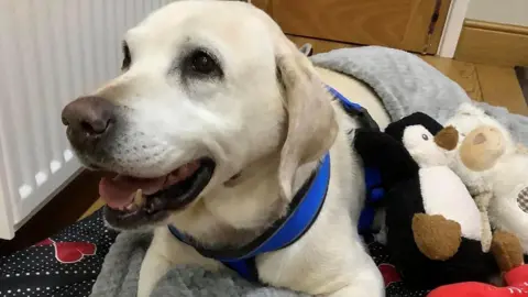
[[[528,154],[497,121],[471,105],[446,128],[418,112],[359,131],[355,148],[382,176],[386,244],[408,285],[430,297],[528,296]]]

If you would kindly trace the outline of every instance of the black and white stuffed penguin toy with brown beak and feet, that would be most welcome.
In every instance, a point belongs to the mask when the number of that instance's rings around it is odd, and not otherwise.
[[[486,283],[498,273],[494,256],[482,251],[479,209],[447,166],[457,142],[457,130],[424,113],[385,133],[359,131],[354,141],[364,165],[381,172],[392,262],[416,288]]]

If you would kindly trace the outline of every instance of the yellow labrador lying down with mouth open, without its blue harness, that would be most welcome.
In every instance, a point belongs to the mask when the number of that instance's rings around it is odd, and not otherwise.
[[[63,121],[87,167],[117,173],[100,183],[107,222],[154,230],[139,296],[174,265],[222,267],[167,224],[200,246],[243,246],[288,212],[328,152],[322,209],[293,244],[256,256],[258,279],[311,295],[384,296],[355,228],[365,190],[346,132],[359,124],[271,18],[243,2],[178,1],[130,30],[123,52],[122,74],[68,105]],[[319,74],[388,121],[360,82]]]

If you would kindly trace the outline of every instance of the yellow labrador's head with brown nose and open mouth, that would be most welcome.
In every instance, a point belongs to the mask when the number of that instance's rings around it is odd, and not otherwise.
[[[273,154],[288,199],[298,166],[333,143],[310,62],[251,4],[168,4],[125,34],[123,56],[120,76],[63,111],[80,161],[118,174],[100,183],[116,228],[164,222]]]

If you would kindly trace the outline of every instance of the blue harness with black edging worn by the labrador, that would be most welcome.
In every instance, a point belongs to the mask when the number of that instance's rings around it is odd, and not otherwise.
[[[351,102],[336,89],[328,87],[330,94],[340,101],[350,117],[356,118],[363,128],[380,130],[369,112],[358,103]],[[208,250],[204,249],[193,238],[178,231],[176,227],[168,226],[170,233],[179,241],[193,246],[205,257],[220,261],[226,266],[239,273],[251,282],[258,282],[258,272],[255,257],[260,254],[284,249],[308,231],[316,221],[327,197],[330,180],[330,154],[327,153],[318,168],[296,193],[286,216],[275,221],[264,233],[252,242],[235,250]],[[374,205],[383,197],[381,175],[374,168],[365,168],[366,202],[359,221],[360,233],[371,232],[374,221]]]

